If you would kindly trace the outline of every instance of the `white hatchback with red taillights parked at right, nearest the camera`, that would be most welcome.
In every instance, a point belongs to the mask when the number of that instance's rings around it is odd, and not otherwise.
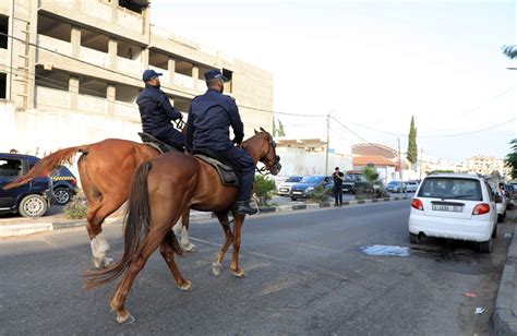
[[[492,251],[497,212],[490,184],[478,176],[436,173],[424,178],[411,201],[409,240],[436,237],[476,241]]]

